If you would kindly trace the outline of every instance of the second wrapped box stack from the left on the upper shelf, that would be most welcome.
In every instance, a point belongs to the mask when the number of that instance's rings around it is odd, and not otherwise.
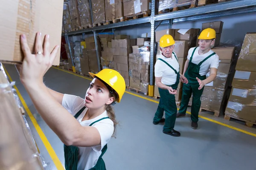
[[[70,11],[72,31],[75,31],[76,29],[81,28],[81,22],[78,11],[78,2],[77,0],[70,0],[68,5]]]

